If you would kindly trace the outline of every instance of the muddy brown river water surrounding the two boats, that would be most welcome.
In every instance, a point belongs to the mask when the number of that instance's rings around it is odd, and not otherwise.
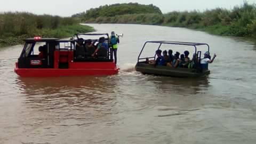
[[[183,28],[91,26],[124,33],[118,75],[21,78],[13,68],[22,45],[0,49],[0,143],[255,143],[255,43]],[[217,53],[211,74],[134,71],[149,40],[208,43]]]

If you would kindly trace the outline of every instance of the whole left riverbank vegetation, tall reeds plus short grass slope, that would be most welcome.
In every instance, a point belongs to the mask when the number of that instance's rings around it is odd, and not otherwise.
[[[52,15],[35,15],[26,12],[0,13],[0,46],[14,45],[23,38],[69,37],[75,33],[93,31],[92,27],[79,25],[76,18]]]

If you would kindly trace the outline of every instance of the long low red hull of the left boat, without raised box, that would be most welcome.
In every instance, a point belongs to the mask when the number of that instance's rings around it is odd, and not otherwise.
[[[119,68],[114,62],[70,62],[69,68],[16,68],[21,77],[59,77],[59,76],[86,76],[86,75],[115,75]]]

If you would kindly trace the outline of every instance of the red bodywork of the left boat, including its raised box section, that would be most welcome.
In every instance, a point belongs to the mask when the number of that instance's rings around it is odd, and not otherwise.
[[[21,77],[104,76],[115,75],[119,71],[114,60],[91,59],[88,61],[74,61],[74,51],[70,50],[55,50],[53,57],[53,66],[51,68],[44,68],[44,60],[35,57],[30,60],[30,68],[20,68],[18,61],[15,63],[14,71]],[[66,67],[61,67],[61,63],[65,63]]]

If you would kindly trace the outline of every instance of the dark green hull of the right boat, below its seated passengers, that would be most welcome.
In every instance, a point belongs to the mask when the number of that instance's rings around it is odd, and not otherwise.
[[[146,63],[137,63],[135,70],[142,74],[171,76],[171,77],[201,77],[210,74],[210,70],[203,70],[199,72],[196,69],[189,68],[172,68],[167,66],[149,65]]]

